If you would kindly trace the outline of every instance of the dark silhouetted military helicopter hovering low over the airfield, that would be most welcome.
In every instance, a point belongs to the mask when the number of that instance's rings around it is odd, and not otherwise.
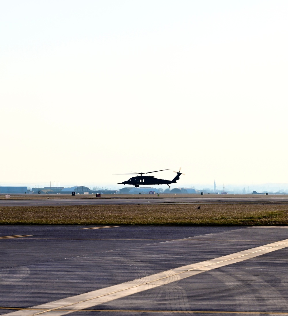
[[[117,184],[134,185],[135,188],[139,188],[139,185],[156,185],[156,184],[167,184],[170,188],[171,186],[169,184],[176,183],[176,181],[179,180],[180,175],[181,174],[184,175],[184,173],[180,172],[180,170],[181,170],[181,168],[180,168],[179,172],[173,171],[173,172],[177,173],[177,176],[172,180],[157,179],[157,178],[154,178],[154,176],[143,176],[143,174],[165,171],[165,170],[169,170],[169,169],[156,170],[156,171],[150,171],[150,172],[133,172],[133,171],[131,171],[133,173],[114,173],[114,174],[134,174],[134,175],[140,174],[140,176],[132,177],[129,180],[124,181],[122,183],[117,183]]]

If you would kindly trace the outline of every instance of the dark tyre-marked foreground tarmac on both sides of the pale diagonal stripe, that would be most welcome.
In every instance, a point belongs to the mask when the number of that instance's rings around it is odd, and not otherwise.
[[[0,226],[0,314],[285,240],[287,228]],[[279,248],[73,315],[288,314],[287,266]]]

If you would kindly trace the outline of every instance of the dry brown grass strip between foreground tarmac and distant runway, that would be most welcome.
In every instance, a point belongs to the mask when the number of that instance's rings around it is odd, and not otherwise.
[[[199,204],[198,204],[199,205]],[[279,204],[156,204],[0,207],[0,224],[287,225]]]

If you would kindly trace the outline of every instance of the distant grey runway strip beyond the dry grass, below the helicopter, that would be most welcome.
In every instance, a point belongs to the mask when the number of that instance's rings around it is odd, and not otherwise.
[[[163,204],[163,203],[282,203],[288,204],[288,197],[146,197],[146,198],[89,198],[89,199],[37,199],[0,200],[0,206],[52,206],[52,205],[95,205],[95,204]]]

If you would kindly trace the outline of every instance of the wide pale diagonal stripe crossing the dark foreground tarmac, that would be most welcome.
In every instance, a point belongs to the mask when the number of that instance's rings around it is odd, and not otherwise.
[[[133,281],[109,286],[104,289],[99,289],[76,296],[67,297],[62,300],[53,301],[50,303],[34,306],[31,309],[24,309],[5,315],[34,316],[45,314],[45,316],[61,316],[76,312],[81,309],[90,308],[109,301],[117,300],[128,295],[146,291],[148,289],[153,289],[161,285],[179,281],[205,271],[223,267],[225,265],[241,262],[250,258],[255,258],[265,253],[286,247],[288,247],[288,239],[232,253],[230,255],[222,256],[219,258],[185,265],[183,267],[178,267],[150,276],[145,276]]]

